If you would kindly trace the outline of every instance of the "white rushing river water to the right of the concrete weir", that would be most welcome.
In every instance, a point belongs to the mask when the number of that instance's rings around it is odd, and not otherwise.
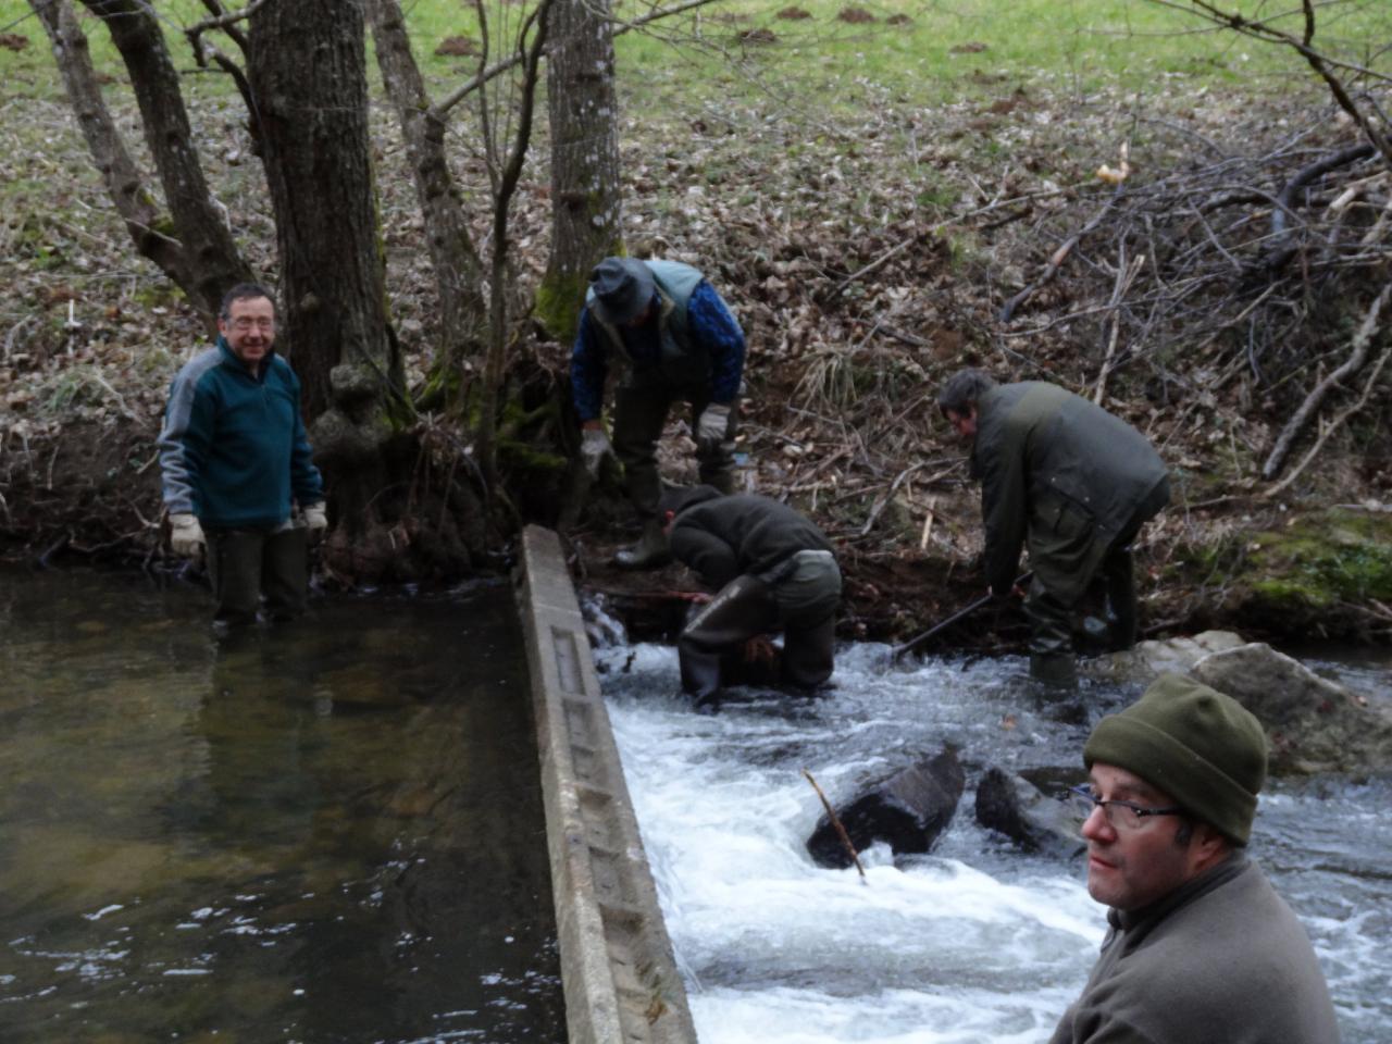
[[[976,823],[974,791],[988,766],[1080,768],[1091,724],[1140,689],[1089,688],[1061,714],[1027,696],[1023,661],[887,672],[885,654],[842,650],[827,696],[745,690],[710,717],[675,696],[672,649],[597,654],[702,1044],[1034,1044],[1096,960],[1083,860],[1015,851]],[[1346,681],[1385,702],[1385,668]],[[931,853],[873,846],[863,883],[810,860],[821,805],[803,768],[845,800],[944,743],[967,785]],[[1389,807],[1386,777],[1274,781],[1250,848],[1314,941],[1345,1044],[1392,1040]]]

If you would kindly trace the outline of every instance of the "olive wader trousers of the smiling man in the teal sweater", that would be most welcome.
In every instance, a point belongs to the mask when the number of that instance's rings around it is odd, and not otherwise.
[[[256,622],[262,596],[271,619],[294,619],[305,611],[309,586],[309,530],[207,530],[207,572],[217,611],[230,626]]]

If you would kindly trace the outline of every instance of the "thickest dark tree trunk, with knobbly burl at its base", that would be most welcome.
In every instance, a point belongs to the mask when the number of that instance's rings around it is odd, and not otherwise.
[[[402,507],[383,493],[411,408],[387,324],[365,28],[356,3],[263,4],[251,18],[248,79],[276,212],[281,337],[294,349],[334,507],[326,562],[380,578],[409,543],[388,530]]]

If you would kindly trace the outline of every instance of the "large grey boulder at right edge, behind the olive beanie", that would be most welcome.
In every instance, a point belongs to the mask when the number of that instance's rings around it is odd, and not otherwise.
[[[1257,715],[1274,775],[1392,768],[1392,717],[1268,644],[1210,653],[1189,675]]]

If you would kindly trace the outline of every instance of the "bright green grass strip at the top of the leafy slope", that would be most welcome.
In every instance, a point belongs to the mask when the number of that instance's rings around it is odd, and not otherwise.
[[[1235,0],[1236,1],[1236,0]],[[1244,0],[1246,14],[1270,7]],[[810,17],[781,18],[798,7]],[[871,21],[838,19],[846,8]],[[462,0],[406,0],[418,57],[434,89],[470,77],[475,58],[436,56],[447,36],[477,38],[476,17]],[[156,8],[181,68],[193,63],[182,26],[206,17],[198,0]],[[522,8],[493,4],[494,25],[515,28]],[[618,17],[639,17],[638,0],[619,0]],[[1317,43],[1354,60],[1367,40],[1392,39],[1392,4],[1349,0],[1320,8]],[[99,68],[117,71],[106,33],[85,13]],[[902,19],[891,24],[892,18]],[[1283,25],[1299,31],[1289,17]],[[53,89],[52,57],[42,26],[21,0],[0,0],[0,32],[28,36],[22,52],[0,52],[7,93]],[[752,42],[764,39],[767,42]],[[494,47],[494,53],[501,53]],[[761,93],[784,104],[834,113],[878,102],[944,104],[995,96],[1015,86],[1089,95],[1102,89],[1162,92],[1228,86],[1251,79],[1307,77],[1292,52],[1244,40],[1182,11],[1146,0],[944,0],[942,3],[842,3],[842,0],[731,0],[658,22],[618,40],[619,75],[635,104],[671,100],[717,103]],[[1384,60],[1385,61],[1385,60]],[[227,90],[224,77],[191,75],[198,89]]]

